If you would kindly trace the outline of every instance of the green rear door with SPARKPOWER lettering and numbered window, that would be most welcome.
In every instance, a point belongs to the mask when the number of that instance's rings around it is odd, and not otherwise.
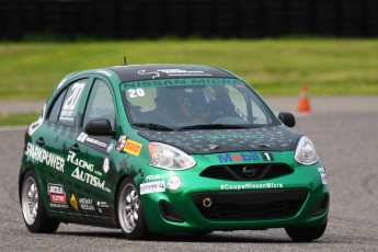
[[[30,142],[34,157],[38,157],[36,172],[46,187],[46,206],[54,211],[71,211],[68,197],[72,188],[67,180],[67,153],[75,145],[77,114],[88,78],[71,81],[53,98],[46,119],[33,134]]]

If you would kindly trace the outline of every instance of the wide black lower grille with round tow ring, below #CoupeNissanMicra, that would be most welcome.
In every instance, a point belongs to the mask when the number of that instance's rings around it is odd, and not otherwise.
[[[291,217],[307,195],[306,188],[218,192],[195,193],[192,201],[208,220],[241,221]]]

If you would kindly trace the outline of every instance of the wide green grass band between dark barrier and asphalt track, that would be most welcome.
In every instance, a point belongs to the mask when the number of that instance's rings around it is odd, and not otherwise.
[[[233,71],[263,95],[378,94],[378,41],[333,38],[0,43],[0,100],[46,100],[69,72],[183,62]]]

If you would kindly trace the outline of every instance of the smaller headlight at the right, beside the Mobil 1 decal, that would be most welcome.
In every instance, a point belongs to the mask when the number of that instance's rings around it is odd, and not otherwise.
[[[312,141],[307,137],[301,137],[298,141],[295,160],[301,164],[310,165],[319,161]]]

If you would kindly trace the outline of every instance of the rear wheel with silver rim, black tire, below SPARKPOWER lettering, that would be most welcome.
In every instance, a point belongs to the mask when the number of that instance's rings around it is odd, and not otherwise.
[[[46,215],[42,191],[34,171],[27,171],[21,184],[21,208],[25,225],[31,232],[53,233],[59,222]]]

